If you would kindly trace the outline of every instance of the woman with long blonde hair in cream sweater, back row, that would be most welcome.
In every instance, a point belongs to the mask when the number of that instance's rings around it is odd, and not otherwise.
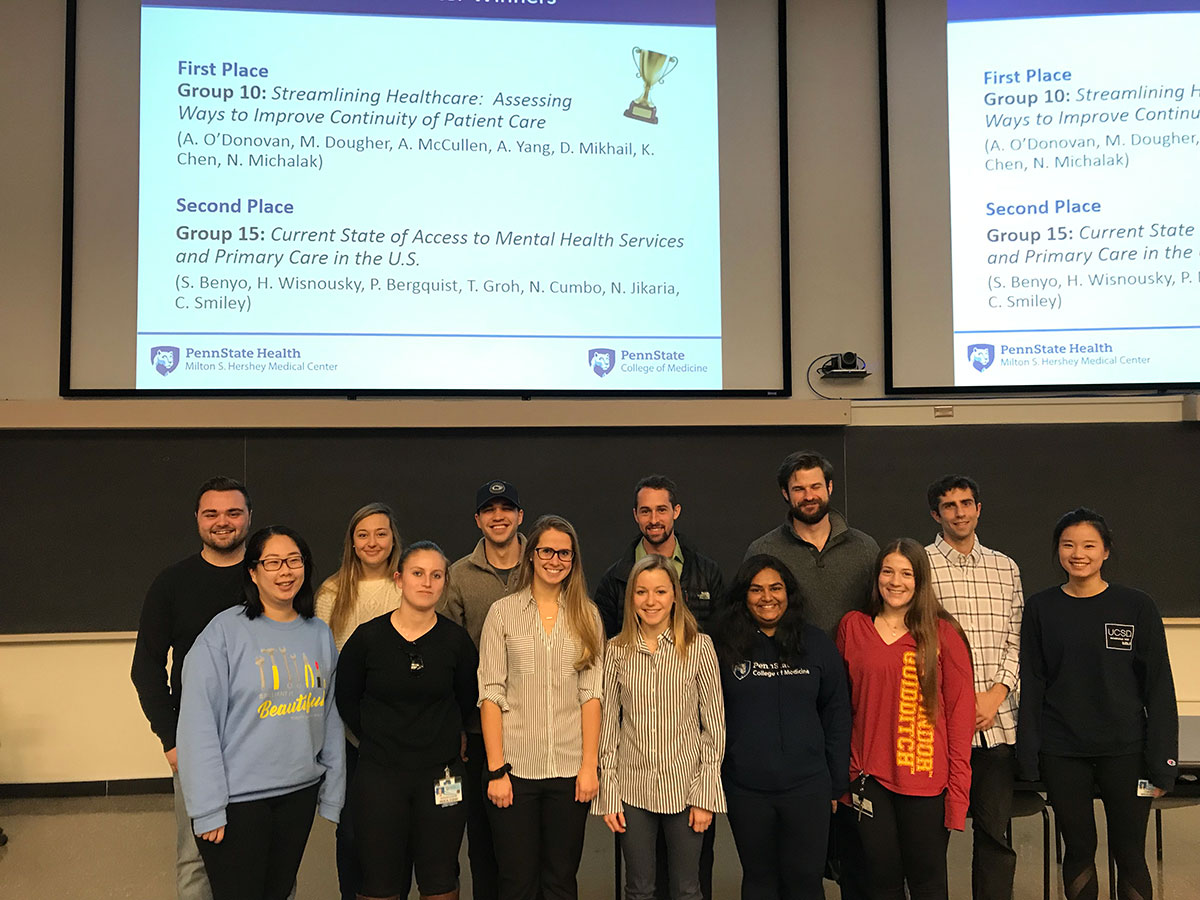
[[[346,641],[364,622],[400,606],[396,570],[400,560],[400,530],[396,516],[384,503],[368,503],[350,516],[342,541],[342,562],[317,592],[317,617],[334,632],[341,653]],[[359,744],[346,731],[346,776],[354,778]],[[337,826],[337,883],[342,900],[354,900],[359,881],[358,857],[349,816]]]

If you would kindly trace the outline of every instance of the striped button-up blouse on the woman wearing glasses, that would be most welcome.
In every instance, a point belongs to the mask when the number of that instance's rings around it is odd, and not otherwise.
[[[599,636],[594,607],[592,616]],[[595,660],[576,671],[580,650],[565,613],[546,634],[528,588],[487,611],[479,642],[479,701],[500,708],[504,761],[517,778],[575,778],[583,764],[580,708],[601,698],[604,670]]]

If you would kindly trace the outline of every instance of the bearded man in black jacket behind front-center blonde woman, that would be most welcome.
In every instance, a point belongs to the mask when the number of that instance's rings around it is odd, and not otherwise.
[[[725,589],[721,570],[682,534],[676,534],[674,523],[680,509],[678,487],[666,475],[647,475],[634,487],[634,521],[642,534],[620,559],[608,566],[593,596],[607,637],[619,632],[624,623],[625,584],[634,563],[650,553],[674,563],[683,584],[684,602],[700,623],[700,630],[707,630]]]

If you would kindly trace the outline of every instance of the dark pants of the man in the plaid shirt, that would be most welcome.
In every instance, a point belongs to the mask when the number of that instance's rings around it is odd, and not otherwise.
[[[1013,817],[1013,748],[977,746],[971,751],[971,895],[974,900],[1012,900],[1016,853],[1008,844]]]

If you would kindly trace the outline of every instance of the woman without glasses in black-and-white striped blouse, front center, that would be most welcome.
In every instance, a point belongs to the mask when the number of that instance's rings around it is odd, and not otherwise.
[[[674,564],[634,565],[625,623],[608,642],[600,796],[592,811],[620,834],[626,900],[653,900],[662,829],[672,900],[700,900],[700,851],[725,811],[725,706],[716,652],[682,602]]]

